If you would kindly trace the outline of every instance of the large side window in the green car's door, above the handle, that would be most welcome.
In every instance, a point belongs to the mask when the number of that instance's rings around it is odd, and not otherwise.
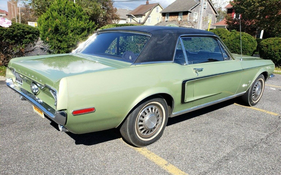
[[[216,39],[211,37],[182,38],[188,64],[223,61],[224,57]]]

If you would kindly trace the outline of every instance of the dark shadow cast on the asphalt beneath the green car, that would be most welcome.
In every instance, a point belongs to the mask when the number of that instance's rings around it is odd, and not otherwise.
[[[225,102],[221,102],[212,106],[208,106],[206,108],[198,109],[196,111],[192,111],[183,115],[179,115],[173,118],[169,118],[167,122],[167,126],[173,125],[179,122],[183,122],[185,120],[189,120],[191,118],[215,111],[220,108],[224,108],[226,106],[229,106],[231,104],[234,104],[235,100],[228,100]],[[58,125],[55,122],[50,123],[53,127],[55,127],[57,130]],[[103,131],[98,131],[98,132],[90,132],[86,134],[73,134],[71,132],[65,132],[68,134],[72,139],[74,139],[75,144],[83,144],[83,145],[95,145],[115,139],[121,138],[121,134],[118,129],[108,129],[108,130],[103,130]]]

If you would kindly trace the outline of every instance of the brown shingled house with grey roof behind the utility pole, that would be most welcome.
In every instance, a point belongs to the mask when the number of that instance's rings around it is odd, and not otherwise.
[[[203,4],[203,21],[201,29],[205,30],[211,24],[216,23],[216,17],[219,16],[217,10],[211,1],[205,0]],[[197,28],[199,13],[200,13],[200,1],[199,0],[176,0],[167,8],[161,11],[162,21],[156,25],[166,26],[168,24],[175,24],[180,27]],[[210,26],[210,28],[215,28]]]

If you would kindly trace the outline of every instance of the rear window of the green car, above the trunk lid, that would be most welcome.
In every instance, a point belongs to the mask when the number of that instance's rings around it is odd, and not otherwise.
[[[134,62],[150,37],[126,32],[98,34],[80,53]]]

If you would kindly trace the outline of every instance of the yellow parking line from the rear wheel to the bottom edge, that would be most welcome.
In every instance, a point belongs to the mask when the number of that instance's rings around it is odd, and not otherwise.
[[[172,165],[169,162],[167,162],[165,159],[163,159],[160,156],[156,155],[155,153],[149,151],[145,147],[143,147],[143,148],[136,148],[136,147],[132,146],[132,148],[134,150],[138,151],[144,157],[148,158],[149,160],[154,162],[156,165],[160,166],[161,168],[163,168],[164,170],[168,171],[171,174],[174,174],[174,175],[188,175],[185,172],[183,172],[182,170],[180,170],[177,167],[175,167],[174,165]]]

